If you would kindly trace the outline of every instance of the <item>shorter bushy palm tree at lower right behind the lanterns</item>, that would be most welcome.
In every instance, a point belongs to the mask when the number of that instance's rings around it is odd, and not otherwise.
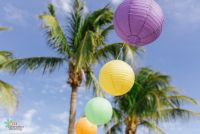
[[[169,76],[141,68],[132,90],[124,96],[114,97],[114,116],[112,123],[106,126],[107,134],[121,132],[123,125],[126,134],[136,134],[140,126],[164,134],[158,126],[160,122],[200,116],[198,112],[182,108],[182,104],[188,102],[197,104],[172,87]]]

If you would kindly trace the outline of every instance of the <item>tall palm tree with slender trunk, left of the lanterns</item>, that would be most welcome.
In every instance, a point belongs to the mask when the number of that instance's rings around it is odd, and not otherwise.
[[[4,67],[16,73],[18,70],[43,69],[43,73],[51,73],[63,65],[68,68],[68,84],[71,86],[70,112],[68,134],[74,134],[76,116],[77,89],[82,83],[92,86],[99,94],[99,84],[93,73],[94,65],[111,57],[121,56],[128,59],[130,52],[134,54],[137,48],[124,43],[107,44],[106,37],[113,30],[113,13],[108,6],[92,13],[84,12],[84,1],[74,0],[72,11],[67,15],[65,30],[60,26],[55,8],[48,6],[48,12],[39,18],[43,22],[48,46],[53,48],[57,57],[30,57],[11,60]],[[86,80],[84,80],[85,76]]]

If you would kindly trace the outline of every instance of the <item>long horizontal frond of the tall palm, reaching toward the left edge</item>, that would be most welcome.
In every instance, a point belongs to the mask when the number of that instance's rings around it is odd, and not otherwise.
[[[16,73],[17,71],[42,69],[43,73],[51,73],[64,62],[58,57],[31,57],[13,59],[3,64],[3,68]]]

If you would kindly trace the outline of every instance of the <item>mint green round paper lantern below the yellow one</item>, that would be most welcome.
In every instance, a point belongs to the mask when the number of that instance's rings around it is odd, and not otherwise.
[[[112,112],[110,102],[101,97],[93,98],[85,107],[87,119],[96,125],[108,123],[112,118]]]

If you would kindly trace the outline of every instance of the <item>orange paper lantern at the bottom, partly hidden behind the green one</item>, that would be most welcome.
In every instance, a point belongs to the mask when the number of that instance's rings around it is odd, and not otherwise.
[[[76,134],[97,134],[97,126],[87,118],[81,118],[76,124]]]

